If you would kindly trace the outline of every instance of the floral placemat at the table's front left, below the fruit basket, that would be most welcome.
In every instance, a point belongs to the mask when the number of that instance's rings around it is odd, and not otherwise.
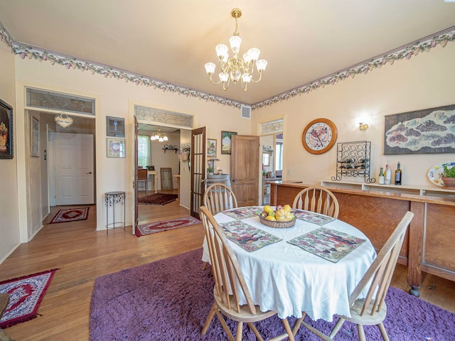
[[[220,227],[228,239],[248,252],[259,250],[262,247],[282,240],[273,234],[262,231],[262,229],[257,229],[240,220],[225,222],[224,224],[220,224]]]

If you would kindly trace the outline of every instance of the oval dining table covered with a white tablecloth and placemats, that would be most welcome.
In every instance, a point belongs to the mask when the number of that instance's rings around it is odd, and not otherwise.
[[[304,210],[291,210],[293,227],[269,227],[259,219],[262,210],[237,207],[214,216],[255,304],[279,318],[350,316],[348,297],[376,257],[370,240],[346,222]],[[205,239],[202,260],[210,263]]]

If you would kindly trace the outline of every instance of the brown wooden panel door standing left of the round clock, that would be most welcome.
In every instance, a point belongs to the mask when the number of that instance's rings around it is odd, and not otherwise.
[[[259,136],[232,135],[230,175],[237,204],[259,205]]]

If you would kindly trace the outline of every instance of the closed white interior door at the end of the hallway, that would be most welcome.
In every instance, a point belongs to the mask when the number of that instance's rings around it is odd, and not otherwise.
[[[94,204],[93,135],[55,133],[56,205]]]

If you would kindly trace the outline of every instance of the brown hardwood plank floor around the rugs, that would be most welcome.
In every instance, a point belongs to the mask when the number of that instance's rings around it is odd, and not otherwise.
[[[97,232],[95,206],[90,207],[87,220],[45,224],[31,242],[21,244],[0,264],[0,281],[59,268],[43,298],[38,318],[6,329],[12,339],[88,340],[90,295],[95,278],[202,246],[200,224],[140,238],[128,227],[125,231],[109,229],[108,234]],[[45,223],[61,208],[52,207]],[[150,222],[189,215],[178,202],[164,206],[139,205],[139,209],[144,211],[139,214],[141,220]],[[405,266],[397,266],[391,285],[409,289]],[[424,276],[421,298],[455,313],[454,282]]]

